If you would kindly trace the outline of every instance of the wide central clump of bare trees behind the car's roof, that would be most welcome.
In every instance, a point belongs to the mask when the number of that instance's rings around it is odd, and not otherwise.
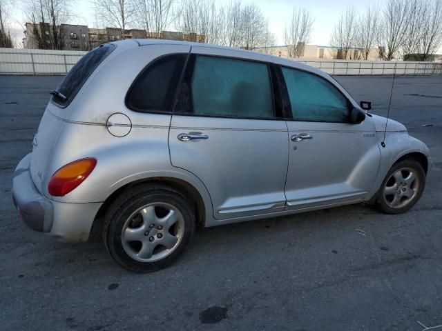
[[[274,46],[269,21],[254,3],[236,0],[227,6],[215,0],[93,0],[98,23],[130,26],[153,35],[169,28],[184,34],[200,34],[204,42],[253,50]]]

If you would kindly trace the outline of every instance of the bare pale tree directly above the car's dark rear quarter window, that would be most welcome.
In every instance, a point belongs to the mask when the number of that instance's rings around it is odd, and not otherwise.
[[[174,0],[137,0],[135,3],[136,25],[160,37],[171,23]]]

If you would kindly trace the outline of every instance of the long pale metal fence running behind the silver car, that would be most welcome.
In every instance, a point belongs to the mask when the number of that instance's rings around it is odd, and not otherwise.
[[[0,48],[0,74],[66,74],[87,52],[75,50],[24,50]],[[329,74],[442,75],[442,63],[403,61],[345,61],[298,59]]]

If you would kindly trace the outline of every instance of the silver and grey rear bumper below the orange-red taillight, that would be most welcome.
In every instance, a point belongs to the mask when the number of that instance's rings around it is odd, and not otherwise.
[[[30,176],[30,157],[19,162],[12,181],[12,201],[23,222],[59,241],[87,241],[102,203],[63,203],[44,197]]]

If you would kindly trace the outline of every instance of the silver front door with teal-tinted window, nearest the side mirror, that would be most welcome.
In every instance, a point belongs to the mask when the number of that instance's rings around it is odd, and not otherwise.
[[[381,153],[370,117],[349,123],[349,105],[336,83],[282,67],[293,119],[289,129],[287,210],[363,201]]]

